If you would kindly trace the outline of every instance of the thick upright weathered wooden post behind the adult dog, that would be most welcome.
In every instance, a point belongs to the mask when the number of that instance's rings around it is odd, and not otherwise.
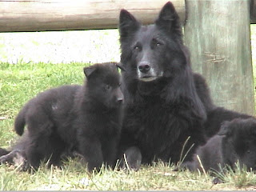
[[[249,2],[187,0],[185,42],[215,104],[254,114]]]

